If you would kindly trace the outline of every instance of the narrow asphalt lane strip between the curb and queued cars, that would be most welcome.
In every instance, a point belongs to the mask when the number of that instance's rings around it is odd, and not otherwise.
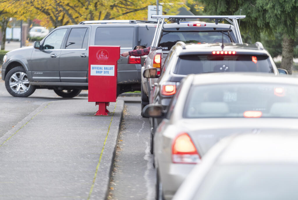
[[[140,103],[125,101],[121,132],[111,174],[108,199],[153,200],[155,170],[150,154],[150,124]]]

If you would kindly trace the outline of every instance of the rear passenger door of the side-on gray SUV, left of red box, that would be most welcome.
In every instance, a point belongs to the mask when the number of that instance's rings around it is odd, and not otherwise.
[[[70,29],[60,54],[61,82],[87,82],[89,33],[87,26]]]

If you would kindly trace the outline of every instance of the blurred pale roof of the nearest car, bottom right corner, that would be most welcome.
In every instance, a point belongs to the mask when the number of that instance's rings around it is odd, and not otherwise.
[[[268,132],[232,136],[217,164],[298,162],[298,134]]]

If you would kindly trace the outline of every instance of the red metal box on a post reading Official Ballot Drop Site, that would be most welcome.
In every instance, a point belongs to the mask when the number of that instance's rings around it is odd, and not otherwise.
[[[89,46],[88,101],[96,102],[95,115],[108,115],[106,106],[117,99],[117,60],[120,46]]]

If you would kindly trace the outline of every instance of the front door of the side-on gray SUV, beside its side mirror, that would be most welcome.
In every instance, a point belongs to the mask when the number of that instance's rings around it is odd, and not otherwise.
[[[41,49],[34,49],[29,62],[33,81],[60,82],[59,58],[61,45],[68,28],[56,29],[50,33]]]

